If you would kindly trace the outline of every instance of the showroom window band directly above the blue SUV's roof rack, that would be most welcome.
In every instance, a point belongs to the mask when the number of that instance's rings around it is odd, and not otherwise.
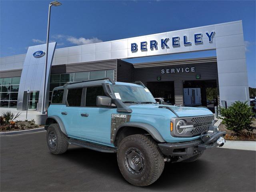
[[[77,72],[69,74],[54,74],[50,77],[49,105],[52,97],[52,90],[69,82],[94,80],[109,77],[114,80],[114,70],[102,70],[91,72]]]

